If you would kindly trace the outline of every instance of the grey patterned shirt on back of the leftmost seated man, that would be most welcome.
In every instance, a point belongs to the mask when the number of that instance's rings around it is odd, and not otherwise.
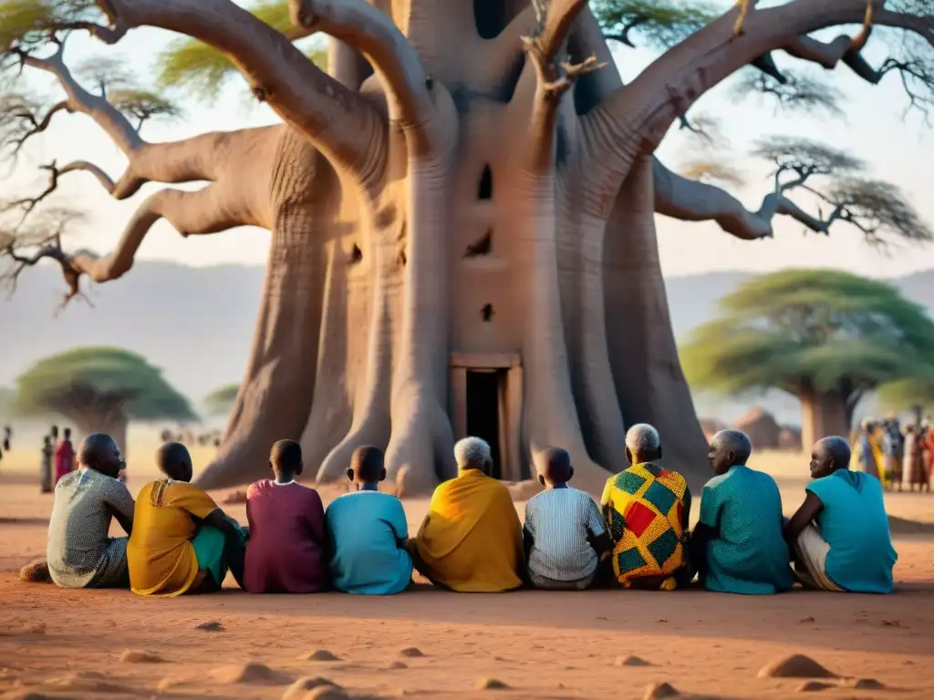
[[[64,588],[91,585],[102,566],[114,511],[133,520],[126,486],[94,469],[65,474],[55,486],[46,556],[52,581]]]

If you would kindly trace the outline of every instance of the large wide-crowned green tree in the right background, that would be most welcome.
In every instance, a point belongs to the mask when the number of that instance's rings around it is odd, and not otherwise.
[[[934,371],[934,323],[883,282],[790,270],[743,284],[720,309],[681,350],[688,382],[797,397],[805,446],[847,435],[856,404],[880,385]]]

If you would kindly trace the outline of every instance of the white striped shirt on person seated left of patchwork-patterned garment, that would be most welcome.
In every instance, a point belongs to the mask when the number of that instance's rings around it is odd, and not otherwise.
[[[579,581],[597,570],[588,538],[606,531],[593,498],[575,488],[554,488],[526,504],[525,529],[532,538],[529,570],[552,581]]]

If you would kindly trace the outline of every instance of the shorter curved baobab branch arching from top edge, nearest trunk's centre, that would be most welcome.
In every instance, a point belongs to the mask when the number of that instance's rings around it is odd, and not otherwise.
[[[395,22],[364,0],[289,0],[292,22],[356,49],[386,84],[391,119],[422,127],[432,113],[429,78]]]

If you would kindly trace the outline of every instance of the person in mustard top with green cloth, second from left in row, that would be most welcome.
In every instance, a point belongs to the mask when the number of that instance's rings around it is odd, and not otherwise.
[[[191,455],[180,442],[156,453],[165,479],[136,497],[127,548],[130,587],[138,595],[182,595],[220,589],[227,569],[243,588],[246,534],[191,482]]]

